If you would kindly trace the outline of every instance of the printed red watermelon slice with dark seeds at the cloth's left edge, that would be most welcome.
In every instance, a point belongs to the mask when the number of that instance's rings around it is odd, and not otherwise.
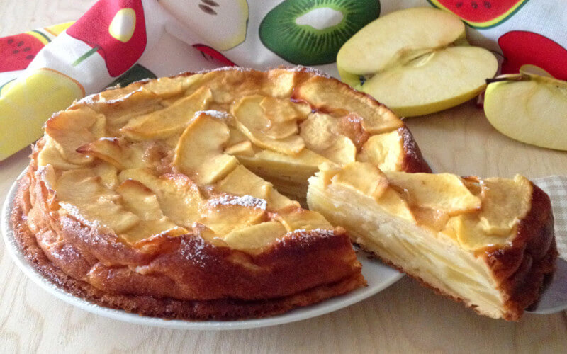
[[[47,42],[45,35],[30,32],[0,38],[0,72],[26,69]]]

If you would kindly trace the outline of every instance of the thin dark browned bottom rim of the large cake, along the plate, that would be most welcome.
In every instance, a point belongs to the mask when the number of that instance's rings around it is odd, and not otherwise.
[[[27,178],[20,182],[11,213],[11,226],[17,244],[28,262],[41,275],[70,295],[89,302],[125,312],[154,316],[163,319],[184,320],[231,320],[273,316],[288,312],[296,307],[304,307],[324,299],[350,292],[366,285],[360,271],[334,282],[313,287],[296,294],[274,299],[243,301],[239,299],[217,299],[206,301],[179,300],[148,295],[120,295],[104,292],[82,280],[72,278],[54,265],[38,245],[33,232],[26,224],[26,213],[22,200],[24,191],[29,188]]]

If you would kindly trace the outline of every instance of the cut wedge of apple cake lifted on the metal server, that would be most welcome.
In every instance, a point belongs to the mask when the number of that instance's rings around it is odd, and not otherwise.
[[[554,271],[551,202],[522,176],[323,164],[309,180],[308,205],[362,249],[493,318],[519,319]]]

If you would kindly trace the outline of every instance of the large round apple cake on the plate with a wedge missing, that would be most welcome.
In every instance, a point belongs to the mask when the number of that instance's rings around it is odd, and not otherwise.
[[[309,69],[139,81],[47,120],[12,224],[43,275],[96,304],[269,316],[365,285],[344,229],[297,201],[320,164],[353,161],[430,171],[390,110]]]

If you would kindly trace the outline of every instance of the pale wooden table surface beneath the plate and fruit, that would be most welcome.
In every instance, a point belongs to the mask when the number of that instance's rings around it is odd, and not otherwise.
[[[0,0],[0,36],[78,18],[94,1]],[[0,58],[1,60],[1,58]],[[435,171],[528,178],[567,174],[567,152],[515,142],[465,103],[407,120]],[[0,161],[0,201],[29,149]],[[567,313],[517,323],[478,316],[407,277],[346,309],[293,324],[240,331],[156,329],[106,319],[62,302],[26,278],[0,245],[0,352],[563,352]]]

